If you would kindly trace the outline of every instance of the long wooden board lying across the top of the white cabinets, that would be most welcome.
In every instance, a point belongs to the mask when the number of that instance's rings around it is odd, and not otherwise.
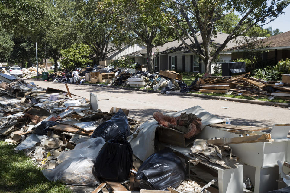
[[[251,135],[235,138],[211,139],[207,140],[206,143],[215,145],[226,145],[226,144],[256,143],[268,141],[274,141],[273,139],[271,139],[271,134]]]

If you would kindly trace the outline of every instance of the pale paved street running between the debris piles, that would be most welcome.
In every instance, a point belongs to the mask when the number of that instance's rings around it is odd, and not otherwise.
[[[29,79],[26,81],[34,82],[42,88],[51,87],[66,91],[63,83]],[[128,109],[130,110],[129,117],[142,122],[153,119],[152,115],[155,111],[166,113],[199,105],[221,119],[230,119],[231,124],[236,125],[267,126],[272,128],[274,123],[290,123],[290,109],[288,108],[87,85],[68,85],[70,92],[75,95],[89,99],[89,93],[94,93],[97,94],[98,100],[108,99],[99,101],[102,111],[109,111],[113,106]]]

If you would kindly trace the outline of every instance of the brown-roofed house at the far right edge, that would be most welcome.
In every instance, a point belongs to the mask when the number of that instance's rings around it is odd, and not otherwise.
[[[275,36],[271,36],[268,38],[264,38],[259,44],[260,47],[256,49],[257,51],[266,51],[260,55],[260,59],[262,61],[275,61],[285,60],[286,58],[290,58],[290,31],[285,33],[280,33]],[[238,48],[233,48],[231,50],[232,60],[238,58],[247,58],[248,49],[247,45],[242,45]]]

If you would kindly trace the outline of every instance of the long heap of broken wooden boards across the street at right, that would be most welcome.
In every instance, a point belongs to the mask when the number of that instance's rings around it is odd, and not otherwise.
[[[278,96],[279,98],[290,99],[290,86],[279,85],[276,81],[262,81],[249,77],[250,72],[238,76],[211,76],[202,77],[197,81],[195,89],[204,93],[229,93],[233,95],[249,96],[256,98],[266,98]],[[273,90],[281,90],[272,92]],[[272,91],[271,91],[272,90]],[[271,93],[272,92],[272,93]],[[256,97],[256,98],[255,98]]]

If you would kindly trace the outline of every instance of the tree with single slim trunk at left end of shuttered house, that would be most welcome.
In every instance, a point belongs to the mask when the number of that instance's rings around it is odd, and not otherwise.
[[[148,71],[154,72],[152,48],[175,40],[175,33],[169,27],[170,15],[161,0],[124,0],[132,40],[147,46]],[[123,10],[122,10],[123,11]]]

